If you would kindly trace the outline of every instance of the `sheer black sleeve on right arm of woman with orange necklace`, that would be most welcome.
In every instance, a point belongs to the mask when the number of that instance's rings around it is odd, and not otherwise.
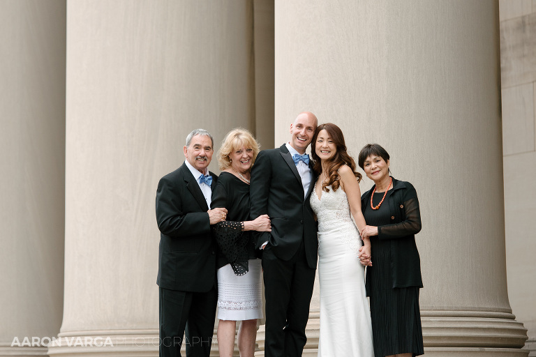
[[[421,211],[419,210],[417,191],[412,185],[409,186],[404,192],[401,204],[402,221],[378,227],[378,238],[402,238],[415,235],[421,230]]]

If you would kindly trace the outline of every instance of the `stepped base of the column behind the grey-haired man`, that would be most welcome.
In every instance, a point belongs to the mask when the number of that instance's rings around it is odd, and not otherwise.
[[[218,357],[218,342],[214,331],[211,357]],[[66,357],[154,357],[158,356],[158,330],[101,330],[60,333],[48,346],[49,356]],[[186,356],[185,344],[181,348]],[[1,354],[0,354],[1,356]],[[46,356],[46,349],[45,354]]]

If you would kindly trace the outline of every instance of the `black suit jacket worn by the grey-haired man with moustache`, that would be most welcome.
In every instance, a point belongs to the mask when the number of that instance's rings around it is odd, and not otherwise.
[[[212,176],[214,190],[218,176]],[[165,175],[156,191],[156,222],[160,229],[159,287],[209,291],[216,281],[216,242],[211,234],[207,201],[184,163]]]

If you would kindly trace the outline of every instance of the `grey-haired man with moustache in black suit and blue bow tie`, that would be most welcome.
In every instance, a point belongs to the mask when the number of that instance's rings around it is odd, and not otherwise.
[[[208,357],[216,314],[216,243],[210,225],[227,210],[210,210],[217,176],[208,170],[214,139],[207,130],[186,137],[184,164],[165,175],[156,191],[156,221],[161,231],[158,255],[160,356]]]

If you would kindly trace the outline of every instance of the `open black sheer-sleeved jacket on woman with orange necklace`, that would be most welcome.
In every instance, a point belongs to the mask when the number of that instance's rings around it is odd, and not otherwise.
[[[421,230],[417,191],[411,183],[393,179],[392,190],[387,193],[378,213],[374,213],[374,217],[371,217],[367,211],[372,211],[370,205],[374,188],[375,186],[362,195],[361,209],[367,225],[371,225],[369,222],[371,218],[378,223],[383,223],[378,224],[378,236],[373,239],[391,241],[389,265],[392,287],[422,287],[421,260],[415,244],[415,234]],[[374,194],[374,201],[377,199],[376,196],[380,195]],[[378,215],[383,217],[380,218]],[[374,257],[372,260],[374,261]],[[368,272],[366,288],[367,294],[370,294]]]

